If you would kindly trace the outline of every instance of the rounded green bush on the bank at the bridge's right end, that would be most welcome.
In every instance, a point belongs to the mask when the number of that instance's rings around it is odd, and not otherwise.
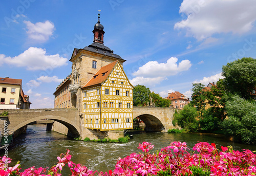
[[[190,103],[184,106],[183,110],[175,112],[173,125],[179,125],[188,132],[197,132],[199,128],[199,122],[196,120],[198,117],[198,111],[196,107]]]

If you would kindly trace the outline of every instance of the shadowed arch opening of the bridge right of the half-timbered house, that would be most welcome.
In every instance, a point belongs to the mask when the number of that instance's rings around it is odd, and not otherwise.
[[[150,114],[142,114],[137,116],[145,123],[145,130],[146,131],[154,131],[154,132],[160,132],[165,129],[162,122],[155,116]],[[136,117],[136,118],[137,118]]]

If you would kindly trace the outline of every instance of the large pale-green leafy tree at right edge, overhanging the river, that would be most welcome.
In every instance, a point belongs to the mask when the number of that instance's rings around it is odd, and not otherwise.
[[[256,144],[256,103],[232,95],[226,102],[226,118],[221,126],[235,141]]]

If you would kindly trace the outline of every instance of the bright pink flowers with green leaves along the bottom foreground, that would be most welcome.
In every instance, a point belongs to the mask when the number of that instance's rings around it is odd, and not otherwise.
[[[61,175],[62,167],[68,165],[71,175],[255,175],[256,155],[244,149],[234,151],[232,147],[216,148],[215,144],[199,142],[194,152],[188,152],[185,142],[172,142],[160,151],[150,153],[154,145],[148,142],[139,144],[142,153],[132,153],[117,160],[116,168],[109,172],[89,170],[86,166],[71,161],[70,150],[57,157],[58,163],[48,168],[28,168],[24,171],[19,163],[8,167],[11,159],[5,156],[0,160],[0,175]]]

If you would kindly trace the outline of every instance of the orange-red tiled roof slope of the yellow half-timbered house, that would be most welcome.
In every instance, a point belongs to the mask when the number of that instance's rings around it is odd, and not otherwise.
[[[108,78],[111,71],[114,69],[115,65],[117,64],[117,61],[114,61],[104,67],[102,67],[87,83],[86,85],[82,86],[82,88],[89,87],[92,85],[97,85],[102,83],[103,81]]]

